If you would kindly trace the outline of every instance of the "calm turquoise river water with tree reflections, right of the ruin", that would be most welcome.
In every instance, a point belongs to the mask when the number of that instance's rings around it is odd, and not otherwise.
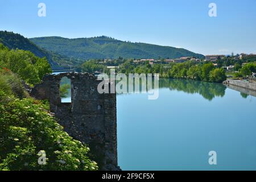
[[[201,81],[160,78],[159,87],[157,100],[117,95],[123,170],[256,169],[255,97]]]

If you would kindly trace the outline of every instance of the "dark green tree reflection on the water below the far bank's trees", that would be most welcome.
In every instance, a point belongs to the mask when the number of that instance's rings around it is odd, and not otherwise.
[[[159,88],[183,91],[185,93],[199,93],[205,99],[211,101],[215,96],[223,97],[226,86],[211,82],[181,80],[181,79],[159,79]]]

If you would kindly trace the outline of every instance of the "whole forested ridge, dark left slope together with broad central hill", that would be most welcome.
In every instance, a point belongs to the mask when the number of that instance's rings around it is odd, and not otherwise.
[[[31,51],[46,57],[53,69],[79,67],[88,59],[175,59],[182,56],[204,57],[186,49],[157,46],[146,43],[123,42],[100,36],[95,38],[68,39],[58,36],[27,39],[14,32],[0,31],[0,43],[10,49]]]

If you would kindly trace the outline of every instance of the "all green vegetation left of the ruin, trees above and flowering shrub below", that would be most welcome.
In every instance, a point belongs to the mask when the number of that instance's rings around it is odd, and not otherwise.
[[[24,89],[46,73],[51,67],[45,58],[0,44],[0,171],[98,169],[88,146],[57,123],[48,101]]]

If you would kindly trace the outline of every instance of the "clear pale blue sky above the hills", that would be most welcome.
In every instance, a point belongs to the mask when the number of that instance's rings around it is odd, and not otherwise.
[[[46,17],[38,16],[40,2]],[[0,0],[0,30],[27,38],[106,35],[204,55],[256,53],[255,7],[255,0]]]

